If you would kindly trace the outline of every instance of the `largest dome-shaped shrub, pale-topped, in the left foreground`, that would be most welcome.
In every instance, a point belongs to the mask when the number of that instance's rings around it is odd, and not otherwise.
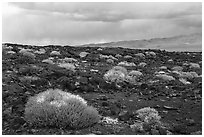
[[[49,89],[30,97],[25,120],[33,126],[83,128],[99,121],[95,108],[78,95]]]

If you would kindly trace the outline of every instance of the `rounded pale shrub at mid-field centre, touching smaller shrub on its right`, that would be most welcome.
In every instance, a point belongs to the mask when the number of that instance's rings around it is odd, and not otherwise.
[[[121,83],[125,81],[125,77],[127,75],[127,69],[121,66],[115,66],[106,74],[104,75],[104,79],[107,82],[115,82],[115,83]]]

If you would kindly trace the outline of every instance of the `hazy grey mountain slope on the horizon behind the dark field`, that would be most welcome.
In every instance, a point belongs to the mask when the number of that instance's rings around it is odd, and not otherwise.
[[[167,51],[202,51],[202,34],[181,35],[149,40],[130,40],[100,44],[85,44],[83,47],[123,47],[131,49],[164,49]]]

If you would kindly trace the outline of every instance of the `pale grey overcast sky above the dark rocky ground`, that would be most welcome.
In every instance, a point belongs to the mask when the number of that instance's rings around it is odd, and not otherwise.
[[[4,3],[2,41],[80,45],[202,32],[202,3]]]

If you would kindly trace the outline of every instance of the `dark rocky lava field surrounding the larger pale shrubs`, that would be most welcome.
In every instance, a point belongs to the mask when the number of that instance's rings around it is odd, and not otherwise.
[[[2,45],[4,135],[202,134],[202,53],[108,47]],[[62,67],[60,63],[69,63]],[[134,81],[108,82],[115,66],[138,72]],[[61,89],[84,98],[101,120],[80,129],[30,126],[29,97]],[[136,111],[158,111],[161,125],[138,125]],[[137,124],[137,126],[136,126]]]

